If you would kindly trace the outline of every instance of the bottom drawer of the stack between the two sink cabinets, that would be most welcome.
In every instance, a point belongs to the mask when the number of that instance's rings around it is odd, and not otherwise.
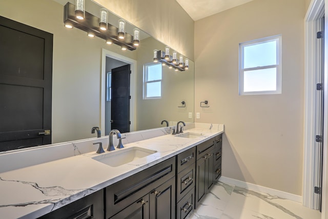
[[[195,190],[190,190],[176,205],[176,218],[186,218],[194,209]]]

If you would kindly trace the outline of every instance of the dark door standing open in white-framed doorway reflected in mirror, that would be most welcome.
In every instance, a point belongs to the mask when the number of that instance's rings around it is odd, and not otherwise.
[[[130,132],[130,65],[112,69],[111,128]]]

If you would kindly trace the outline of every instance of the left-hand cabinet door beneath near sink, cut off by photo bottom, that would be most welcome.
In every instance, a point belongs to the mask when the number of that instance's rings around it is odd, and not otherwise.
[[[129,205],[124,210],[111,217],[111,219],[148,219],[149,217],[149,194]]]

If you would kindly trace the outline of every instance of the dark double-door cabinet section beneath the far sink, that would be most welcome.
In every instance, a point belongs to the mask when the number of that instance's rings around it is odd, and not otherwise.
[[[196,146],[195,208],[214,183],[214,138]]]

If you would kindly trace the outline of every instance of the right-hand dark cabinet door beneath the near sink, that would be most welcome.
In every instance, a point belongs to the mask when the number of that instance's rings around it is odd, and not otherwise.
[[[149,196],[150,218],[175,218],[175,177],[155,188]]]

